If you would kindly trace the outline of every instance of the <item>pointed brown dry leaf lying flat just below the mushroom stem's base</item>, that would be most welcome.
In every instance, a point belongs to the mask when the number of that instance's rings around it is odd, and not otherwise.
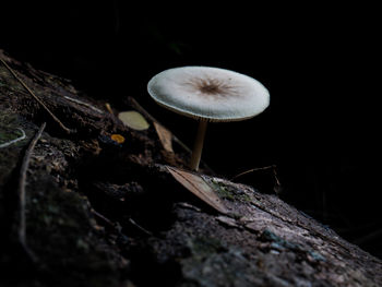
[[[191,191],[202,201],[207,203],[210,206],[214,207],[216,211],[228,214],[227,207],[224,205],[220,198],[216,194],[216,192],[198,175],[180,170],[175,167],[166,166],[168,171],[172,175],[172,177],[179,181],[186,189]]]

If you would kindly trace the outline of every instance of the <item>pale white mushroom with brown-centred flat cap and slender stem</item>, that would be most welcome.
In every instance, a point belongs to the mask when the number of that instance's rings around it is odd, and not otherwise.
[[[220,68],[165,70],[150,80],[147,91],[160,106],[199,120],[190,160],[192,170],[199,169],[208,121],[250,119],[270,105],[270,94],[259,81]]]

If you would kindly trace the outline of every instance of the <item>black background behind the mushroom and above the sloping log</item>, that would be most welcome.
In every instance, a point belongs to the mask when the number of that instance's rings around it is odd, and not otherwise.
[[[287,202],[382,256],[375,8],[95,2],[2,2],[0,48],[117,109],[135,97],[190,146],[196,123],[153,103],[153,75],[201,64],[259,80],[270,108],[211,124],[204,160],[226,177],[277,165]],[[274,184],[270,170],[240,181]]]

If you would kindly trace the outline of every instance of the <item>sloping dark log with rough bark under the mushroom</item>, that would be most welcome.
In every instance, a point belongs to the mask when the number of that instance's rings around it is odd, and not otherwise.
[[[228,212],[194,196],[166,168],[184,168],[188,152],[176,142],[166,152],[147,115],[148,130],[131,130],[69,81],[0,57],[75,130],[0,64],[0,144],[26,134],[0,148],[1,286],[382,286],[379,259],[276,195],[202,164]],[[26,250],[16,190],[43,122],[26,177]]]

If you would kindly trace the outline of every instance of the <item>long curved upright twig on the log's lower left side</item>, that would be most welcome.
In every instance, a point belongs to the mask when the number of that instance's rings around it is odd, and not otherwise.
[[[31,155],[33,153],[33,150],[36,146],[36,143],[38,142],[39,137],[43,134],[43,131],[45,129],[46,123],[44,122],[41,127],[39,128],[38,132],[36,135],[33,137],[28,148],[25,152],[23,163],[21,165],[21,170],[20,170],[20,179],[19,179],[19,241],[25,252],[29,255],[33,262],[37,262],[36,255],[32,252],[32,250],[27,247],[26,244],[26,231],[25,231],[25,184],[26,184],[26,171],[29,166],[29,160],[31,160]]]

